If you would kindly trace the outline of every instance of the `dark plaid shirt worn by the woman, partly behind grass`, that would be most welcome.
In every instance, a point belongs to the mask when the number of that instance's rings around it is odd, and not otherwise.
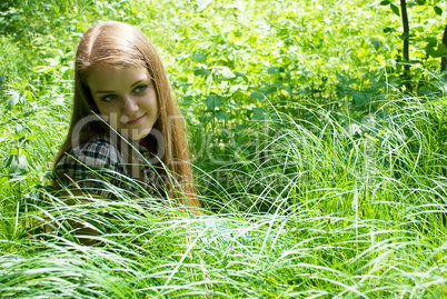
[[[160,178],[150,166],[151,156],[138,142],[132,146],[136,149],[132,150],[135,155],[130,156],[133,161],[128,162],[126,157],[129,155],[123,155],[109,137],[92,138],[86,144],[71,149],[59,161],[53,172],[56,180],[64,187],[107,198],[117,198],[123,193],[135,197],[143,195],[145,190],[155,195],[162,186],[157,186]],[[132,177],[139,177],[140,180]]]

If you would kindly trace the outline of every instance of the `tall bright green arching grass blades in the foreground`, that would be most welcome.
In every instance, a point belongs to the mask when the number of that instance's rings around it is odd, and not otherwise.
[[[230,186],[201,175],[201,201],[218,212],[190,217],[126,197],[76,206],[49,195],[46,205],[27,200],[19,223],[48,222],[59,232],[7,238],[2,227],[1,293],[445,296],[446,156],[436,123],[446,108],[409,97],[385,106],[394,112],[365,122],[311,103],[287,103],[308,120],[272,110],[275,118],[250,128],[264,134],[255,152],[264,162],[246,157],[216,170]],[[89,221],[102,232],[98,243],[80,245],[62,226],[68,219]]]

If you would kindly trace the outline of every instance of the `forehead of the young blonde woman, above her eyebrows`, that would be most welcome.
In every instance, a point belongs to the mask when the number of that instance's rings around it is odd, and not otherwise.
[[[149,72],[143,67],[116,68],[109,66],[93,67],[86,79],[92,92],[98,90],[127,89],[138,81],[150,79]]]

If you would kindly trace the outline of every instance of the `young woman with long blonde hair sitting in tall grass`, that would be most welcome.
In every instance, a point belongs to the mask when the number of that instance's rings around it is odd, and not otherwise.
[[[137,28],[107,21],[82,37],[54,176],[64,188],[108,198],[169,197],[197,213],[181,114],[155,47]]]

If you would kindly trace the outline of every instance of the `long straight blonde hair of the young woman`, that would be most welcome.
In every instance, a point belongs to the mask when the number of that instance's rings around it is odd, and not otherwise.
[[[163,137],[162,162],[181,183],[188,195],[188,205],[199,207],[195,196],[192,171],[185,137],[181,113],[173,100],[171,87],[156,51],[149,39],[139,29],[122,22],[107,21],[90,28],[82,37],[76,53],[74,101],[68,136],[54,159],[54,166],[72,148],[74,133],[78,143],[103,132],[101,126],[87,126],[87,130],[76,131],[76,126],[86,117],[99,114],[86,79],[92,68],[108,66],[113,68],[145,67],[153,80],[159,118],[153,129]],[[78,137],[79,136],[79,137]],[[160,144],[158,144],[160,146]],[[166,182],[168,183],[168,182]],[[173,183],[168,183],[171,195],[178,195]]]

